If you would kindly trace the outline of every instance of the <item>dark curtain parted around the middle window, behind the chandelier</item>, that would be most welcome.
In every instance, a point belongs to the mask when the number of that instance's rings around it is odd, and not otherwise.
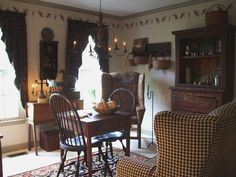
[[[82,53],[88,44],[88,36],[91,35],[97,43],[97,24],[68,19],[65,74],[78,77],[78,69],[82,65]],[[76,41],[76,44],[74,44]],[[98,53],[100,68],[108,72],[108,32],[105,30],[104,49],[95,48]]]

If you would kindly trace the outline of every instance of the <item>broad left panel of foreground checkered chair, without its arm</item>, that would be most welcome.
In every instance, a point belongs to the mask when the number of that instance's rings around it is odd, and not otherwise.
[[[155,117],[158,137],[157,176],[201,176],[219,117],[160,112]]]

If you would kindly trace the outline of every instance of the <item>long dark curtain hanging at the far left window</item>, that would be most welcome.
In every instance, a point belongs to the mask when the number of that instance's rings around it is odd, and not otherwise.
[[[21,103],[25,108],[28,101],[28,66],[27,66],[27,33],[25,13],[1,11],[0,27],[2,41],[6,45],[10,63],[15,69],[15,86],[20,91]]]

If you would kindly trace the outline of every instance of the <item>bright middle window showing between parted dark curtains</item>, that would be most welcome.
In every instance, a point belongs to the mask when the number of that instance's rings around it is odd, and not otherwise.
[[[81,99],[84,100],[84,108],[92,108],[93,102],[101,99],[101,70],[97,54],[90,55],[90,47],[94,48],[95,43],[91,36],[88,38],[88,45],[82,54],[82,65],[79,68],[76,87],[80,90]]]

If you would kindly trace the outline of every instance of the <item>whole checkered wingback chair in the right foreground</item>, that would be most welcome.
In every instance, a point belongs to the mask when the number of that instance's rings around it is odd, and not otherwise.
[[[156,166],[125,157],[117,177],[236,176],[236,102],[208,115],[162,111],[155,116]]]

